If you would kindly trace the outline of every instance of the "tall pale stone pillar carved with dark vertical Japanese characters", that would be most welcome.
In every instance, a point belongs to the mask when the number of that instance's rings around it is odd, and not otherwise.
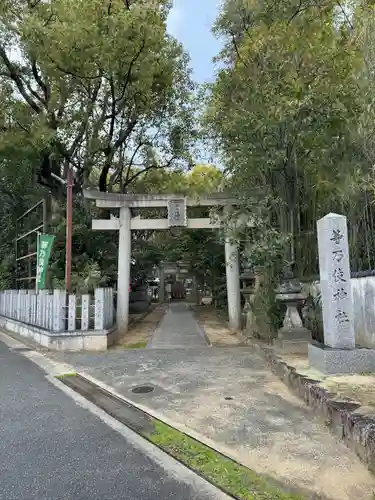
[[[353,349],[355,332],[346,217],[328,214],[317,223],[324,343]]]

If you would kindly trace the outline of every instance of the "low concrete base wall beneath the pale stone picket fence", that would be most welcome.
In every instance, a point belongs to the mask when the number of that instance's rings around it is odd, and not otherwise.
[[[0,328],[54,351],[105,351],[117,340],[115,329],[54,333],[4,316],[0,316]]]

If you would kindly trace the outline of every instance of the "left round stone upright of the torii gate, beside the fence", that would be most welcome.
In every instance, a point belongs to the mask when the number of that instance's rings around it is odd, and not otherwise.
[[[129,285],[131,259],[131,213],[129,207],[120,208],[117,278],[117,330],[125,334],[129,325]]]

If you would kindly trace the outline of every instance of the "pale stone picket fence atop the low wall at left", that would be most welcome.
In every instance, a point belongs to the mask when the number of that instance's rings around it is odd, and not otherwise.
[[[0,316],[52,332],[106,330],[114,324],[113,290],[98,288],[94,297],[67,296],[65,290],[5,290]]]

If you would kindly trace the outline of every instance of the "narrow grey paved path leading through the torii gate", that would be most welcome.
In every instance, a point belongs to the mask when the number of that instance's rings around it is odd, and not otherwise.
[[[148,347],[153,349],[207,347],[207,342],[188,304],[172,302]]]

